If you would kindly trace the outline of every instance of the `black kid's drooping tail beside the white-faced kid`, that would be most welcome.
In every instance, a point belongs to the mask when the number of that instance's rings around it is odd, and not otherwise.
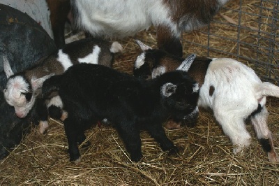
[[[52,76],[45,80],[42,87],[43,98],[48,98],[52,92],[58,92],[61,85],[61,75]]]

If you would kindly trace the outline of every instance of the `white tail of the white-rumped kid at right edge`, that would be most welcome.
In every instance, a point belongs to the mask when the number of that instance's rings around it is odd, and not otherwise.
[[[269,82],[264,82],[257,87],[259,97],[275,96],[279,97],[279,87]]]

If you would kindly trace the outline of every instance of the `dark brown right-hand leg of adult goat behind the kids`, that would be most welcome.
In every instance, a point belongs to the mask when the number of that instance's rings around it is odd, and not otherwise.
[[[174,36],[173,31],[164,25],[157,27],[157,45],[160,50],[165,50],[172,55],[182,57],[182,45],[179,36]]]

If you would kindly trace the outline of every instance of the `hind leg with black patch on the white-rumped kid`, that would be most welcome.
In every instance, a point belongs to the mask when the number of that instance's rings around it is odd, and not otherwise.
[[[269,157],[270,162],[279,162],[279,157],[276,154],[273,147],[272,134],[267,126],[267,117],[269,113],[266,110],[266,107],[262,107],[259,113],[252,115],[251,122],[255,128],[257,138],[259,138],[259,142],[262,144],[262,148]]]

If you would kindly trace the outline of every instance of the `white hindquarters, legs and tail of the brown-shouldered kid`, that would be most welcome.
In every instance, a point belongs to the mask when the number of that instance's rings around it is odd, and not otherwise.
[[[210,89],[214,89],[209,95]],[[271,131],[267,126],[266,96],[279,97],[279,87],[262,83],[255,71],[234,59],[212,59],[204,85],[199,92],[199,106],[211,108],[224,133],[235,145],[234,154],[250,145],[250,134],[244,120],[250,117],[263,146],[269,143],[271,162],[279,159],[273,149]]]

